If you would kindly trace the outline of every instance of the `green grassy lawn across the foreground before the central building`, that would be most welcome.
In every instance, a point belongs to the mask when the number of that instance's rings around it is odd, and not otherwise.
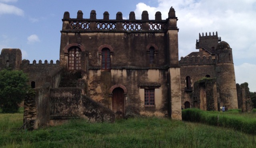
[[[64,125],[34,131],[18,130],[22,120],[22,113],[0,113],[0,147],[253,148],[256,145],[255,135],[166,118],[141,117],[116,123],[74,119]]]

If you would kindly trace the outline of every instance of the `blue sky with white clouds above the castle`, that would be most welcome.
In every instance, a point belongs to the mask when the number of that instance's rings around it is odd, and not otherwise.
[[[198,51],[199,33],[216,32],[233,52],[236,83],[248,82],[256,92],[256,0],[0,0],[0,50],[19,48],[22,59],[59,60],[60,30],[64,12],[76,18],[90,18],[96,10],[97,19],[108,11],[110,19],[122,12],[128,19],[134,11],[141,19],[147,10],[149,19],[157,11],[168,18],[170,7],[176,11],[179,28],[179,57]]]

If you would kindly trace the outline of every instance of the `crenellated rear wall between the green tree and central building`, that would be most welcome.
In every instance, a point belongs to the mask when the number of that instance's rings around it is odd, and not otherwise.
[[[51,88],[58,87],[63,73],[63,67],[60,66],[59,60],[56,61],[56,64],[52,60],[50,63],[47,60],[44,63],[42,60],[36,63],[34,60],[31,64],[29,60],[22,60],[21,69],[28,74],[29,85],[34,82],[35,88],[39,88],[46,82],[51,84]]]

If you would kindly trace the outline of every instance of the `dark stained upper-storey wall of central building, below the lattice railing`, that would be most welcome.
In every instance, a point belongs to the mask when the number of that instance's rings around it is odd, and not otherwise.
[[[77,33],[62,33],[60,55],[61,63],[67,64],[64,49],[67,43],[77,43]],[[79,33],[80,45],[89,51],[89,68],[101,68],[101,50],[108,47],[111,55],[111,67],[150,67],[149,48],[154,44],[155,67],[166,65],[166,37],[164,33]],[[104,46],[106,45],[106,46]],[[143,60],[141,60],[143,59]],[[82,61],[85,62],[85,61]]]

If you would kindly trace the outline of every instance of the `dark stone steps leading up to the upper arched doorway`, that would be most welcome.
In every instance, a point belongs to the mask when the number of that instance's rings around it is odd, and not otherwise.
[[[60,80],[59,88],[75,88],[77,80],[82,78],[81,72],[64,72]]]

